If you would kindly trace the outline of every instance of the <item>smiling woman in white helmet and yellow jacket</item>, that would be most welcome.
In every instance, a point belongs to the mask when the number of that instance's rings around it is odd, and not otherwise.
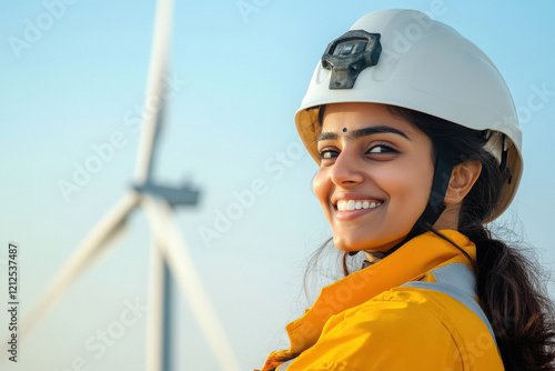
[[[522,156],[478,48],[416,11],[366,14],[325,50],[295,123],[346,277],[263,371],[555,370],[552,303],[483,227],[514,198]]]

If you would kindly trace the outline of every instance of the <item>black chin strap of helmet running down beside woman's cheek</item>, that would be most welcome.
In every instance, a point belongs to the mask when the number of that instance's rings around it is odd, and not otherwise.
[[[451,181],[453,168],[454,167],[451,162],[445,161],[443,158],[437,159],[434,171],[434,180],[432,182],[432,192],[430,193],[430,200],[426,209],[424,209],[424,212],[418,218],[416,223],[414,223],[413,229],[408,232],[408,234],[406,234],[403,241],[384,252],[383,258],[390,255],[416,235],[426,232],[427,229],[425,228],[425,225],[434,225],[437,219],[440,219],[442,212],[445,210],[443,201],[445,200],[445,193],[447,192],[447,187]],[[356,253],[357,251],[353,252]],[[364,262],[362,263],[362,268],[366,268],[369,265],[372,265],[372,263],[367,260],[364,260]]]

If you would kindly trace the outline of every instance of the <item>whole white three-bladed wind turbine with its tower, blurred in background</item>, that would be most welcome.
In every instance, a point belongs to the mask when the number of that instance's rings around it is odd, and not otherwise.
[[[153,239],[149,273],[149,313],[147,325],[147,370],[170,369],[165,351],[169,342],[170,279],[173,277],[181,292],[189,299],[192,312],[211,347],[221,370],[239,371],[230,341],[213,310],[202,282],[181,238],[172,207],[195,204],[199,191],[189,186],[170,188],[152,179],[153,159],[163,124],[165,101],[164,78],[173,18],[173,0],[158,0],[151,60],[147,83],[145,104],[132,189],[100,220],[84,238],[65,265],[58,273],[29,317],[22,322],[22,337],[53,307],[69,285],[110,245],[121,237],[129,215],[142,209],[152,228]],[[152,107],[154,106],[154,107]]]

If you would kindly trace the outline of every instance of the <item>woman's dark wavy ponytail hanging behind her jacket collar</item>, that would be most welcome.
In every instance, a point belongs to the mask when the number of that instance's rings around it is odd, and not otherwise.
[[[481,224],[462,228],[476,244],[477,290],[505,370],[555,370],[553,305],[539,290],[534,264]]]

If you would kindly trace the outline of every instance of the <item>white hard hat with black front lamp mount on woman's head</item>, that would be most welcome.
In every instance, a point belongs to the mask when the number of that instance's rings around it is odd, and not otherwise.
[[[295,113],[296,130],[317,163],[319,109],[342,102],[398,106],[488,130],[485,148],[506,162],[512,178],[487,222],[513,200],[523,169],[513,99],[490,58],[453,28],[415,10],[380,10],[332,41]]]

